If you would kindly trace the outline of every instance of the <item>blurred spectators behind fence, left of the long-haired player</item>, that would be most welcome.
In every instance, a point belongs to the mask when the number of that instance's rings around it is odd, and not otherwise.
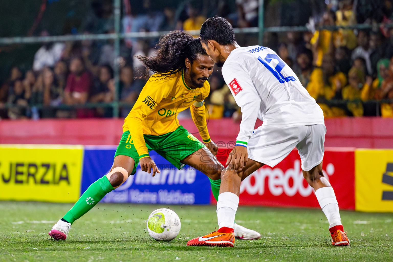
[[[130,54],[123,57],[124,61],[130,58]],[[99,51],[91,41],[45,44],[37,51],[31,70],[22,73],[12,68],[0,89],[0,103],[15,106],[0,109],[0,117],[112,117],[112,108],[68,110],[59,106],[114,101],[113,64],[109,63],[113,60],[110,45]],[[134,77],[138,70],[132,63],[121,63],[119,71],[119,101],[132,105],[145,80]]]

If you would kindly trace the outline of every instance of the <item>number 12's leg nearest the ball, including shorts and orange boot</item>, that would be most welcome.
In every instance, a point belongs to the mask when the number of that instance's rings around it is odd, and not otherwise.
[[[306,130],[305,127],[301,129]],[[302,130],[299,130],[299,127],[296,126],[281,128],[266,125],[254,130],[251,139],[248,141],[248,161],[246,167],[243,168],[244,171],[237,173],[227,167],[221,172],[221,187],[219,200],[217,201],[219,223],[217,236],[222,238],[223,236],[220,234],[233,232],[233,222],[239,204],[240,182],[264,164],[274,167],[283,160],[298,144],[298,136],[300,136]],[[302,137],[304,137],[304,134]],[[217,244],[217,246],[220,246],[221,240],[212,238],[216,243],[211,243],[212,239],[209,235],[195,238],[189,241],[187,245],[209,246]],[[227,243],[228,245],[231,246]]]

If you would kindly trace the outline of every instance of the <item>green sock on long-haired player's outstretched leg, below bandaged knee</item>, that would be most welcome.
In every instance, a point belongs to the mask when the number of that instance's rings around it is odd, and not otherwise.
[[[82,194],[81,198],[73,205],[63,219],[69,223],[75,222],[78,218],[86,214],[92,209],[103,197],[112,191],[114,188],[110,184],[107,176],[103,176],[99,180],[90,185],[88,189]]]

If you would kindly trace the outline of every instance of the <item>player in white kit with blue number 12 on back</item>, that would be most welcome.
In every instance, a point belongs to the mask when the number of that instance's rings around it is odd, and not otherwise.
[[[263,165],[274,167],[295,147],[303,176],[314,188],[329,221],[332,244],[349,245],[338,203],[323,176],[326,127],[323,112],[301,85],[294,71],[270,48],[240,47],[232,26],[221,17],[209,18],[200,29],[202,47],[222,66],[222,75],[242,121],[236,146],[221,173],[217,202],[219,230],[190,240],[189,246],[233,246],[233,223],[239,204],[240,182]],[[263,125],[254,130],[256,119]]]

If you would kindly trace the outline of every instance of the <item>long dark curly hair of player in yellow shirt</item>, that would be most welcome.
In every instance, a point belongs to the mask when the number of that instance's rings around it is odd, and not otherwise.
[[[169,76],[185,69],[185,59],[191,63],[197,55],[207,55],[200,44],[199,38],[182,31],[171,31],[163,35],[156,47],[157,54],[154,57],[137,58],[146,66],[147,71],[152,70],[161,76]]]

